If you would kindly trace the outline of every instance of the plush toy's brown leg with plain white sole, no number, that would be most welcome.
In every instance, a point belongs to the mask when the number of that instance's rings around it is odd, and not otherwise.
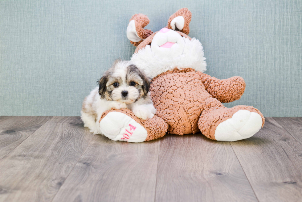
[[[217,141],[237,141],[252,137],[264,124],[261,112],[250,106],[209,107],[199,120],[198,128],[206,137]]]

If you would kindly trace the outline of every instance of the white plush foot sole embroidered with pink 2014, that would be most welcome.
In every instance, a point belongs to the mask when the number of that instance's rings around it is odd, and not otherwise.
[[[100,131],[114,141],[143,142],[148,135],[141,124],[121,112],[109,112],[100,121]]]

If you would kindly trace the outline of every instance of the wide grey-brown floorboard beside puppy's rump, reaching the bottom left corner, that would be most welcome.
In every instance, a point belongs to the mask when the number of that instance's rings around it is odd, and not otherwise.
[[[0,201],[51,201],[94,135],[52,117],[0,161]]]

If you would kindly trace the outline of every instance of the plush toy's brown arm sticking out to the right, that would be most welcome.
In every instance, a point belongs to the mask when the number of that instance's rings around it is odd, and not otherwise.
[[[240,99],[245,90],[245,82],[241,77],[218,79],[202,72],[199,72],[199,74],[202,77],[206,91],[222,103],[229,103]]]

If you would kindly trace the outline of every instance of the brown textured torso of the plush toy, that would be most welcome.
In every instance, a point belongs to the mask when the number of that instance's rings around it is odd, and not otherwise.
[[[169,124],[171,134],[199,132],[198,119],[210,94],[195,71],[161,74],[151,83],[157,116]]]

